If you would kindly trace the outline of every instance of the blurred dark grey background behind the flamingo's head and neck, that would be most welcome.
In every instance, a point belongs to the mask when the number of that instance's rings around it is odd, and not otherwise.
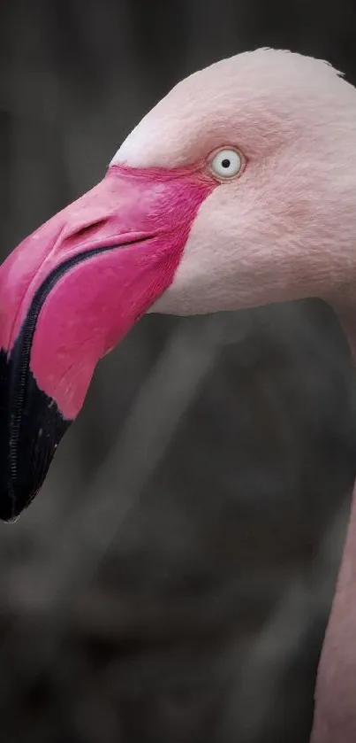
[[[356,82],[352,0],[11,0],[0,250],[181,77],[268,45]],[[150,316],[0,525],[4,743],[304,743],[356,471],[354,375],[307,301]]]

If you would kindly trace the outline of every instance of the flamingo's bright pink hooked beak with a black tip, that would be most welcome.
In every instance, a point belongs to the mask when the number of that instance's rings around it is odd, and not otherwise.
[[[0,518],[42,486],[97,361],[172,282],[213,184],[112,166],[0,267]]]

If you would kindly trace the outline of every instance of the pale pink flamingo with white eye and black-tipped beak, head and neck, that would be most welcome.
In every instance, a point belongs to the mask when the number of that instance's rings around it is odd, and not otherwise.
[[[355,349],[355,194],[356,90],[328,63],[261,49],[179,82],[0,268],[0,517],[39,491],[97,361],[144,313],[318,297]],[[355,501],[313,743],[356,740]]]

